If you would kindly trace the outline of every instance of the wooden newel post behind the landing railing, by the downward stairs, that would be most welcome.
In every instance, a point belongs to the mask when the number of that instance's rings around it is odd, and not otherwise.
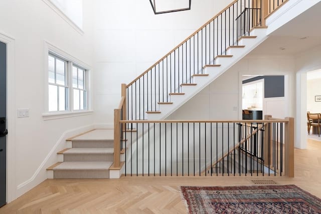
[[[264,120],[272,118],[271,115],[264,115]],[[264,164],[266,166],[272,163],[272,124],[267,123],[264,127]]]

